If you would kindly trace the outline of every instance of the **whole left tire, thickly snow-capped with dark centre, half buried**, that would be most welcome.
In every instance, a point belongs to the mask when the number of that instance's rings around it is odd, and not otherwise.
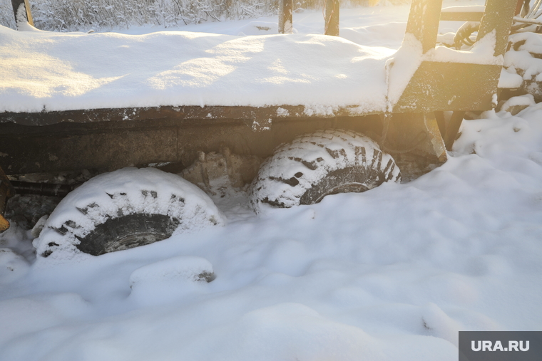
[[[125,168],[100,174],[68,194],[34,247],[42,257],[99,256],[223,223],[208,195],[178,175]]]

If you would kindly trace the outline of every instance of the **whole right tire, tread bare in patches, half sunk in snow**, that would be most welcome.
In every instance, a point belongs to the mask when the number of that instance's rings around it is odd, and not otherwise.
[[[329,194],[364,192],[399,182],[391,155],[373,140],[349,130],[322,130],[281,145],[251,184],[250,206],[289,208],[318,203]]]

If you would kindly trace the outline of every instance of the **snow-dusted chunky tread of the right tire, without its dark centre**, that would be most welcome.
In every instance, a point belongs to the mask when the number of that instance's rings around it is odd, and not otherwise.
[[[286,208],[297,206],[307,189],[330,172],[356,166],[382,172],[386,180],[400,181],[399,168],[392,157],[369,137],[343,130],[301,135],[292,143],[278,147],[260,166],[251,184],[251,206],[257,212],[262,210],[263,200]],[[376,180],[367,177],[364,186],[371,189],[377,185],[373,183]]]

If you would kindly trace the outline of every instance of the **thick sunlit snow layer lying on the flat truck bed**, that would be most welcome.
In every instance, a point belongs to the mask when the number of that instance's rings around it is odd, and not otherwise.
[[[14,31],[0,26],[0,111],[160,105],[360,105],[382,111],[393,50],[315,34]]]

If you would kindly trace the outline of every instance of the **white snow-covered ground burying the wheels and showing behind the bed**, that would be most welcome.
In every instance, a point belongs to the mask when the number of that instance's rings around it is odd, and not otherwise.
[[[341,32],[397,49],[407,13],[344,9]],[[318,33],[319,21],[305,12],[294,26]],[[258,215],[238,192],[214,199],[225,226],[65,262],[35,261],[14,226],[0,235],[0,360],[457,360],[459,330],[542,330],[531,99],[465,121],[448,162],[406,184]],[[213,282],[186,276],[210,268]]]

